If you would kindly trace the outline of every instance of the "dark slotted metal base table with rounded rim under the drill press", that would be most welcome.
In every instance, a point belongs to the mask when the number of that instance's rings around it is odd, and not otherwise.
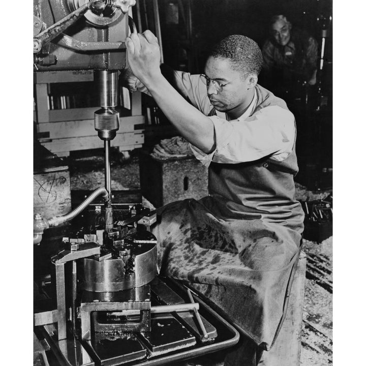
[[[189,302],[187,293],[178,283],[156,278],[150,283],[151,304]],[[192,312],[151,315],[151,331],[116,334],[95,332],[89,341],[70,339],[57,341],[53,325],[44,325],[39,333],[50,345],[56,363],[73,366],[105,365],[158,365],[197,357],[235,345],[239,340],[237,330],[219,314],[209,308],[199,297],[199,313],[208,337],[202,332]]]

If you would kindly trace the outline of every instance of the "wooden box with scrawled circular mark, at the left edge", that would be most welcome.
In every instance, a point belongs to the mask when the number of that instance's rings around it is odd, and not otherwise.
[[[71,210],[69,167],[45,147],[34,149],[33,211],[44,219]]]

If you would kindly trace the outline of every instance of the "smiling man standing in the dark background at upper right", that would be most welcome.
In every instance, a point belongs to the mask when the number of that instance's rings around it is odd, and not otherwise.
[[[318,43],[306,31],[292,28],[284,15],[270,20],[265,41],[261,84],[286,102],[300,98],[306,84],[317,82]]]

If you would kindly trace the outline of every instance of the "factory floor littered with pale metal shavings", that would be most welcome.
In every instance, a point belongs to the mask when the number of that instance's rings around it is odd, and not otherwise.
[[[69,158],[72,190],[93,190],[104,186],[103,156]],[[111,188],[113,190],[137,190],[140,188],[137,156],[120,163],[111,162]],[[296,198],[316,200],[325,198],[329,190],[310,191],[296,184]],[[150,203],[143,198],[143,204]],[[307,254],[307,278],[303,304],[301,337],[301,366],[332,364],[332,237],[321,243],[303,241]],[[222,355],[205,356],[189,360],[182,365],[220,366]]]

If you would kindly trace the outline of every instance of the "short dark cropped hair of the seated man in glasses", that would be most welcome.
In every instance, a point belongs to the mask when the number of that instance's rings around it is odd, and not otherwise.
[[[242,35],[225,37],[211,50],[209,56],[230,58],[232,68],[242,73],[258,75],[263,65],[258,44]]]

